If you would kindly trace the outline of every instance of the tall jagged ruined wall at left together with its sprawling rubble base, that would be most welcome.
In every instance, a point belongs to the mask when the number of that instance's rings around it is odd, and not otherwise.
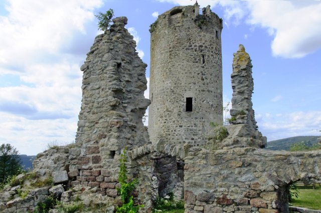
[[[106,212],[113,212],[120,204],[116,186],[119,186],[119,158],[124,147],[130,150],[149,142],[142,123],[150,103],[143,95],[147,83],[146,64],[139,58],[133,36],[125,28],[127,18],[117,17],[112,21],[104,34],[96,36],[80,68],[83,95],[75,143],[39,153],[32,175],[34,182],[49,178],[56,185],[54,187],[60,183],[67,188],[73,187],[73,190],[64,191],[61,186],[64,202],[80,197],[86,206],[97,204],[106,207]],[[153,163],[147,157],[129,159],[127,163],[128,177],[137,176],[142,183],[133,193],[134,200],[144,203],[146,212],[151,207]],[[39,201],[52,194],[51,183],[41,189],[29,190],[35,187],[31,186],[32,181],[28,179],[23,181],[24,185],[9,187],[4,194],[0,193],[0,210],[32,211]],[[18,190],[29,191],[28,199],[19,197]]]

